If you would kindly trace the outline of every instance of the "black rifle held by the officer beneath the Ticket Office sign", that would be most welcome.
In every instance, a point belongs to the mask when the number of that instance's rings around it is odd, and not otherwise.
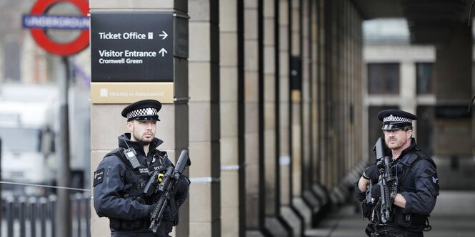
[[[166,172],[163,177],[163,181],[161,181],[158,186],[152,183],[160,179],[158,177],[158,173],[155,174],[155,172],[154,174],[152,174],[151,179],[146,184],[145,189],[144,189],[145,195],[150,195],[156,192],[159,192],[160,194],[159,201],[157,202],[156,207],[154,211],[151,212],[151,216],[150,216],[151,224],[150,224],[149,230],[151,232],[157,233],[157,231],[159,230],[161,219],[164,216],[164,210],[166,206],[169,205],[170,200],[174,198],[176,194],[176,189],[175,189],[176,183],[180,179],[181,174],[183,174],[185,167],[190,166],[190,165],[191,165],[191,162],[189,160],[188,152],[184,150],[181,152],[178,162],[176,162],[175,168],[169,167],[168,169],[166,169]],[[154,186],[156,186],[156,189],[153,190]]]

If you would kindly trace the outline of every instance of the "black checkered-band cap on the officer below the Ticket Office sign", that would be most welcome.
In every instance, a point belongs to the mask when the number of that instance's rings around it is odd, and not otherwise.
[[[157,112],[159,112],[160,109],[161,103],[158,100],[140,100],[125,107],[124,110],[122,110],[121,115],[125,117],[127,121],[160,121],[159,115],[157,115]]]

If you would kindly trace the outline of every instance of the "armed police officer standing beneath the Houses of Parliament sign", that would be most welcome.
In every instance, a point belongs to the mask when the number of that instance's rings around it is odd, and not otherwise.
[[[127,106],[121,115],[127,119],[130,133],[119,136],[119,147],[112,150],[94,172],[94,209],[109,218],[112,237],[168,237],[178,224],[178,209],[186,199],[189,179],[181,176],[176,184],[176,196],[164,211],[156,235],[149,231],[150,215],[159,194],[145,196],[144,186],[154,170],[166,172],[173,166],[166,152],[156,149],[163,141],[155,137],[157,100],[141,100]]]

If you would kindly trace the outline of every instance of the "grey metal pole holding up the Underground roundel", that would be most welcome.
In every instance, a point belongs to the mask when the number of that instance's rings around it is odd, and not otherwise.
[[[63,57],[62,63],[66,69],[66,75],[58,76],[59,85],[59,139],[58,144],[58,172],[56,173],[56,182],[58,186],[70,186],[70,167],[69,167],[69,115],[68,115],[68,90],[69,80],[71,79],[71,69],[68,57]],[[61,75],[58,72],[58,75]],[[58,202],[56,209],[56,236],[71,236],[72,218],[71,218],[71,200],[69,191],[66,189],[57,189]]]

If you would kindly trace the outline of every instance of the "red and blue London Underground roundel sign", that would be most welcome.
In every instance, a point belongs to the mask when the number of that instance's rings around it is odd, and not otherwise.
[[[86,0],[38,0],[36,4],[34,4],[33,8],[30,12],[30,17],[34,16],[44,16],[46,11],[48,11],[51,6],[54,4],[58,4],[61,2],[66,2],[70,4],[74,4],[79,11],[81,11],[82,18],[84,19],[87,17],[89,13],[89,2]],[[67,21],[67,23],[61,23],[61,21]],[[31,35],[35,39],[36,43],[39,44],[42,48],[44,48],[49,53],[53,53],[60,56],[68,56],[74,53],[79,53],[84,48],[89,46],[89,27],[88,28],[81,28],[81,33],[79,36],[69,43],[58,43],[48,35],[46,35],[45,28],[59,28],[59,26],[67,25],[70,22],[78,22],[72,21],[71,17],[61,17],[56,16],[54,19],[36,19],[36,21],[27,21],[25,20],[24,16],[24,25],[25,22],[39,22],[46,26],[26,26],[30,28]],[[83,21],[84,22],[84,21]],[[88,20],[89,22],[89,20]],[[84,23],[83,23],[84,24]],[[56,25],[53,27],[49,27],[50,25]],[[67,28],[67,27],[66,27]]]

